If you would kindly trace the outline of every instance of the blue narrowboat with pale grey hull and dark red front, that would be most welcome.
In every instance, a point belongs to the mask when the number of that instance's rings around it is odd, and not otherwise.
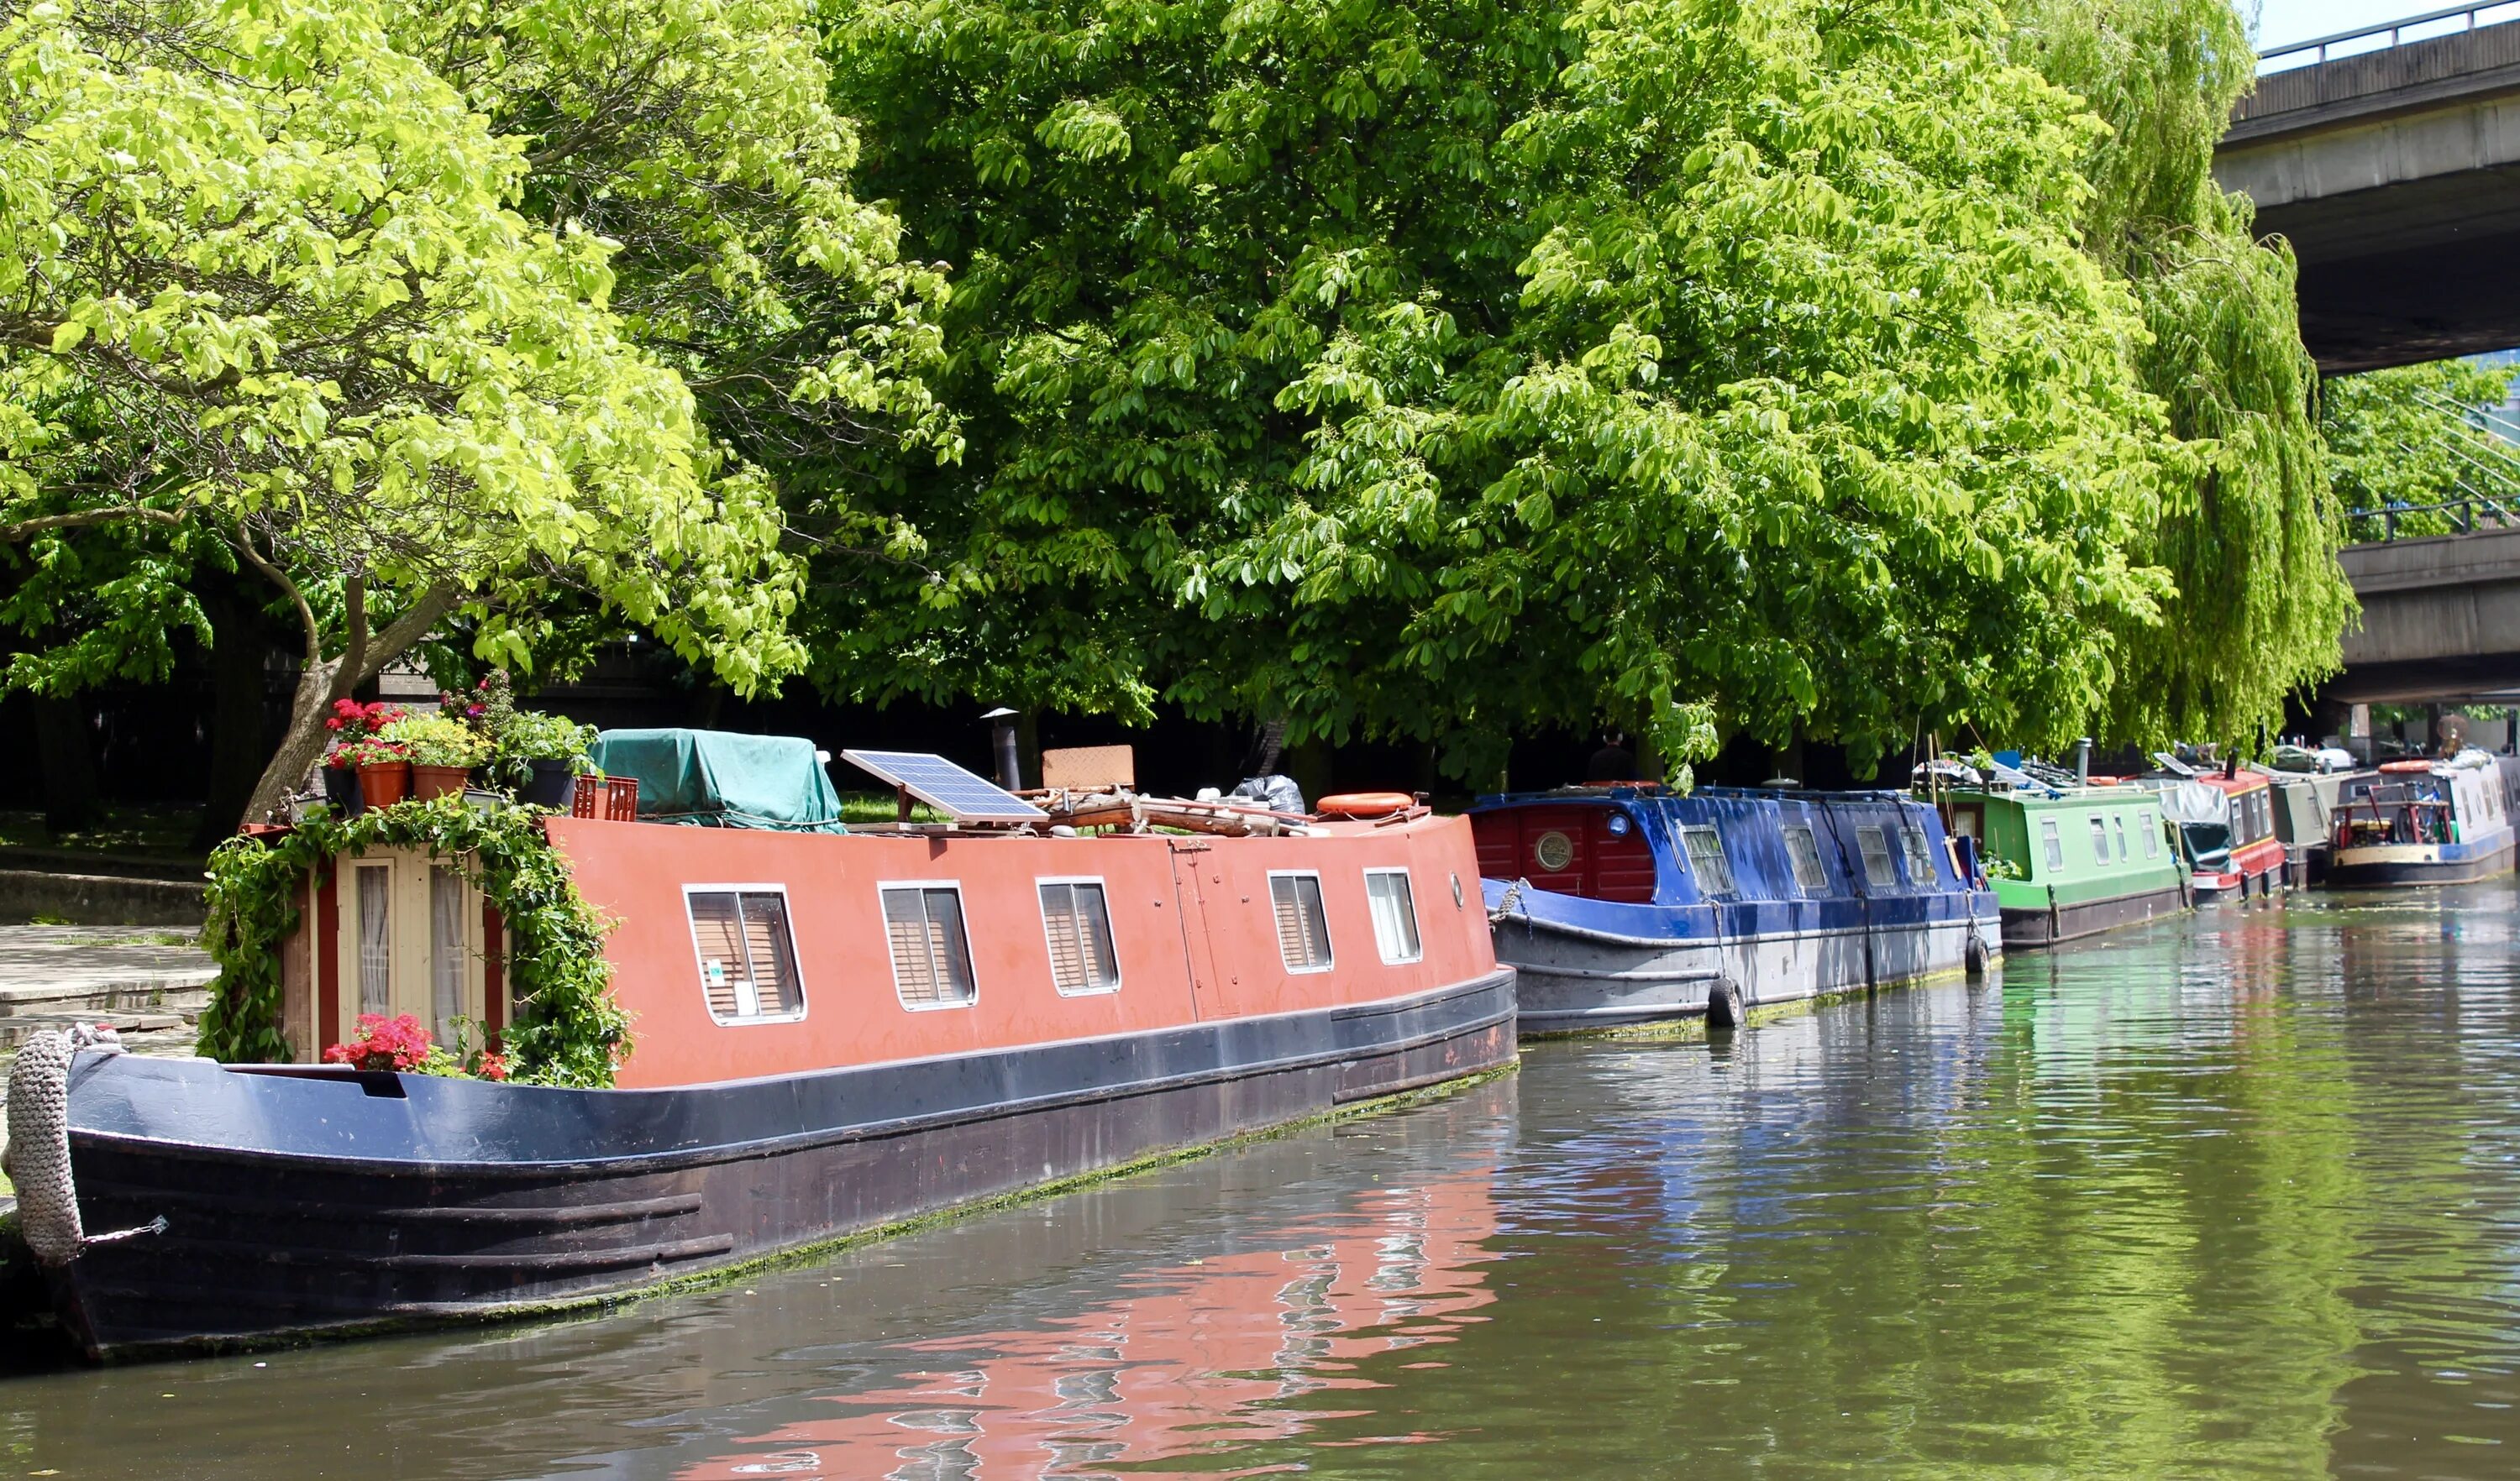
[[[1583,1033],[1981,970],[2003,919],[1968,839],[1890,793],[1658,786],[1469,811],[1522,1033]]]

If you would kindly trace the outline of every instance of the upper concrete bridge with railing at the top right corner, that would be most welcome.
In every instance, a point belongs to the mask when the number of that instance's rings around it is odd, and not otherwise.
[[[2215,179],[2301,259],[2328,375],[2520,345],[2520,5],[2467,5],[2260,58]]]

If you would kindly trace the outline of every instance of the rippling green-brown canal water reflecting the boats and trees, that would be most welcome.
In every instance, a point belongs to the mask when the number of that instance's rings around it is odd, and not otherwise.
[[[0,1476],[2507,1476],[2512,882],[2308,894],[607,1317],[0,1378]]]

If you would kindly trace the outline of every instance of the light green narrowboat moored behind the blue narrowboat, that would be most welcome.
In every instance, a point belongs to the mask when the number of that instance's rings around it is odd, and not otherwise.
[[[2187,909],[2162,803],[2139,786],[1940,788],[1943,826],[1976,839],[2003,950],[2054,947]]]

